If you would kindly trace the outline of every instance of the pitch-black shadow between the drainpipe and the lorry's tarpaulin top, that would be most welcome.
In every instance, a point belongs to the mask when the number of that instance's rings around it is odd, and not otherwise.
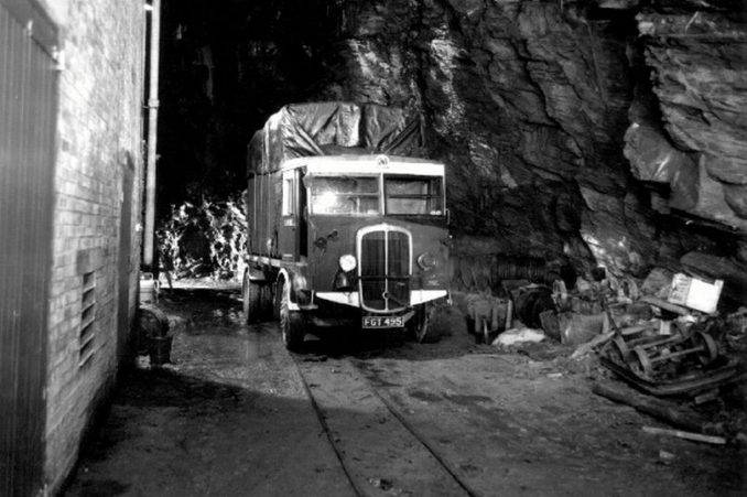
[[[339,6],[164,0],[158,210],[246,187],[246,147],[272,112],[336,78]]]

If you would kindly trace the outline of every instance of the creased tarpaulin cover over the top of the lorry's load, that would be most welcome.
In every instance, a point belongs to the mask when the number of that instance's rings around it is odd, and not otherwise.
[[[275,171],[290,159],[342,153],[422,156],[420,119],[375,104],[292,104],[270,116],[249,143],[248,171]]]

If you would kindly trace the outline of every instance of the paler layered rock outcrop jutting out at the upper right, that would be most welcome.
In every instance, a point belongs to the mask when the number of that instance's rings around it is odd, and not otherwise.
[[[668,186],[661,209],[747,229],[747,33],[734,12],[641,12],[654,97],[634,102],[626,155]]]

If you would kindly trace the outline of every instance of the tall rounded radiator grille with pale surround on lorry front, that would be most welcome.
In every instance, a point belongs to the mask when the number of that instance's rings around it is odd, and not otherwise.
[[[410,236],[381,229],[360,238],[360,292],[364,309],[399,311],[410,304]]]

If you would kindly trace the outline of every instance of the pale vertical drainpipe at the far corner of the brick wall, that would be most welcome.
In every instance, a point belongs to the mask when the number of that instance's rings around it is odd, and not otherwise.
[[[154,270],[155,236],[155,141],[159,123],[159,48],[161,33],[161,0],[151,0],[150,90],[148,96],[148,174],[145,176],[145,229],[143,233],[143,264]]]

